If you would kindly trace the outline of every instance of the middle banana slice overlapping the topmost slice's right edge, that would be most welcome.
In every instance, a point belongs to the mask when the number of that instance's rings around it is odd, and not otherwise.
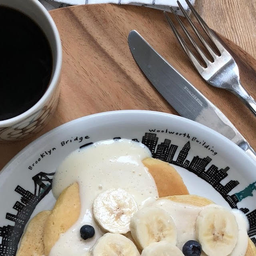
[[[158,207],[145,207],[131,218],[130,229],[136,244],[145,248],[152,242],[177,242],[177,230],[172,217]]]

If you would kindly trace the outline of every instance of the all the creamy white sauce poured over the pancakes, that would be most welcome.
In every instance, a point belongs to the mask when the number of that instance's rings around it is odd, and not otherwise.
[[[93,218],[93,201],[101,192],[113,188],[122,188],[132,194],[138,209],[152,205],[169,212],[177,227],[177,246],[180,250],[188,240],[197,240],[196,218],[202,208],[209,206],[198,207],[161,198],[156,200],[156,184],[142,164],[144,158],[151,156],[143,144],[126,139],[97,142],[70,154],[56,171],[52,191],[58,198],[64,188],[78,182],[81,211],[78,221],[66,233],[61,234],[50,256],[88,254],[96,240],[104,234]],[[232,212],[238,223],[238,243],[230,256],[244,256],[248,246],[248,220],[241,211]],[[95,235],[82,240],[80,228],[85,224],[94,227]],[[204,252],[201,255],[206,256]]]

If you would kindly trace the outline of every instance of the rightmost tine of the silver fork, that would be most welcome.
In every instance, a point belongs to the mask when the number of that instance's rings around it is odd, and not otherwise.
[[[196,12],[195,8],[192,6],[190,1],[189,0],[185,0],[185,1],[188,4],[188,6],[189,6],[190,10],[192,11],[192,13],[194,14],[194,16],[196,17],[196,20],[200,23],[200,25],[204,29],[204,32],[206,32],[206,34],[209,36],[212,43],[216,46],[216,48],[219,50],[219,52],[221,54],[225,50],[225,48],[223,47],[220,40],[217,38],[217,36],[214,34],[214,32],[212,32],[212,30],[208,27],[208,25],[201,18],[201,16],[198,14],[198,12]]]

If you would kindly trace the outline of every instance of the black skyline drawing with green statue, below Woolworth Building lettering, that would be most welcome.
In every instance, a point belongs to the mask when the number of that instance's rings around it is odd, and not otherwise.
[[[256,182],[254,182],[244,190],[232,195],[228,195],[228,193],[239,184],[237,180],[230,180],[225,185],[220,183],[224,178],[228,176],[227,172],[229,167],[218,169],[217,166],[212,164],[206,170],[206,166],[208,166],[212,161],[212,158],[208,156],[205,158],[194,156],[190,162],[186,159],[190,150],[189,141],[183,146],[182,150],[178,152],[178,146],[171,144],[171,140],[165,139],[164,142],[158,144],[158,137],[156,134],[146,132],[142,137],[142,143],[149,148],[154,158],[160,159],[170,164],[174,164],[176,166],[181,166],[208,182],[216,191],[222,195],[222,197],[232,208],[238,208],[238,202],[241,202],[248,196],[253,196],[252,192],[256,190]],[[176,160],[174,160],[175,154],[178,155]],[[246,214],[250,223],[250,230],[248,231],[248,235],[256,235],[256,209],[251,212],[249,212],[250,210],[248,208],[240,208],[240,210]],[[252,241],[256,245],[256,239],[252,238]]]

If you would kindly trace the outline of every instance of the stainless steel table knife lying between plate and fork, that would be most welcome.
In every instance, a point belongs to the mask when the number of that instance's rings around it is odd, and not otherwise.
[[[256,153],[228,118],[158,54],[136,30],[130,32],[128,43],[140,69],[181,116],[219,132],[256,161]]]

